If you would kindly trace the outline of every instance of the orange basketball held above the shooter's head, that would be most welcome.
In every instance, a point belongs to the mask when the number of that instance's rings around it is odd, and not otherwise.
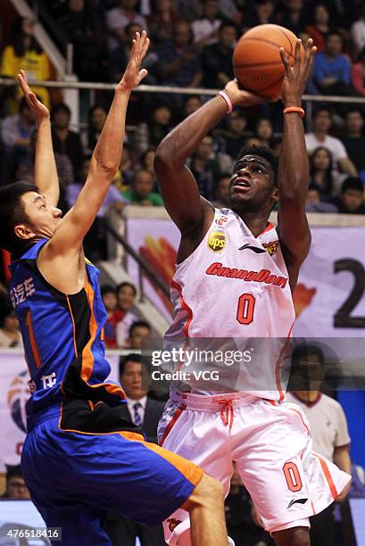
[[[259,25],[247,30],[233,53],[233,70],[239,86],[268,99],[278,98],[284,79],[284,65],[279,48],[286,50],[294,64],[297,37],[279,25]],[[301,56],[304,49],[301,46]]]

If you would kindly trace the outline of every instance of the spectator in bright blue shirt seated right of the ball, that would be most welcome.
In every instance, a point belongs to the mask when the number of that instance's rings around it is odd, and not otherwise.
[[[351,62],[342,50],[341,35],[332,31],[326,37],[324,51],[314,57],[313,82],[324,95],[353,95]]]

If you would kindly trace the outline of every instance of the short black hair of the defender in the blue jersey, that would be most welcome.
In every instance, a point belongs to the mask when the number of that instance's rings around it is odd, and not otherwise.
[[[0,187],[0,247],[16,257],[20,257],[33,243],[19,238],[14,232],[17,224],[30,222],[21,202],[21,196],[28,192],[39,194],[39,189],[29,182],[14,182]]]

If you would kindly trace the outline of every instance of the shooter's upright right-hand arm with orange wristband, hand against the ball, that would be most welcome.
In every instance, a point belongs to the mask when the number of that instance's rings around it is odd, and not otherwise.
[[[295,46],[295,60],[290,67],[283,48],[281,59],[286,69],[282,87],[284,108],[301,107],[302,95],[311,71],[316,48],[308,40],[301,61],[301,41]],[[305,199],[309,186],[309,162],[304,141],[303,120],[299,112],[284,114],[284,135],[278,161],[278,229],[292,290],[299,267],[311,246],[311,231],[305,215]]]

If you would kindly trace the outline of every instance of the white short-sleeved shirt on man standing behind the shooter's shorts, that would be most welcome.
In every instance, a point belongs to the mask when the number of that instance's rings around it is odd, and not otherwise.
[[[311,426],[313,450],[319,455],[333,461],[335,448],[351,443],[344,409],[327,394],[319,393],[316,401],[305,402],[294,393],[286,393],[285,401],[294,402],[303,409]]]

